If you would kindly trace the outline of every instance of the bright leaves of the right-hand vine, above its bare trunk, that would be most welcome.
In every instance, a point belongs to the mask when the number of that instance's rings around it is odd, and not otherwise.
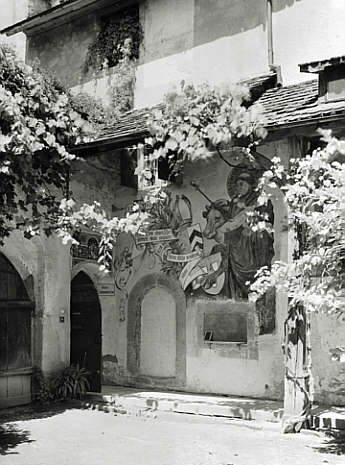
[[[324,148],[284,169],[278,158],[261,179],[261,203],[280,188],[289,209],[296,250],[291,263],[261,269],[252,298],[271,286],[287,292],[292,306],[344,315],[345,142],[321,131]],[[273,191],[272,191],[273,189]]]

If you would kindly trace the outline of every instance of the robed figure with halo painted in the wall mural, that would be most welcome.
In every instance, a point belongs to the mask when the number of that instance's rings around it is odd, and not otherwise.
[[[217,273],[226,271],[226,294],[234,299],[248,298],[249,283],[254,280],[256,271],[262,266],[270,266],[274,255],[273,235],[266,230],[253,231],[247,221],[247,213],[257,208],[257,182],[256,171],[238,165],[227,180],[230,200],[216,200],[206,205],[203,212],[206,219],[204,237],[223,245],[222,266],[207,279],[214,280]],[[265,213],[273,224],[271,204]]]

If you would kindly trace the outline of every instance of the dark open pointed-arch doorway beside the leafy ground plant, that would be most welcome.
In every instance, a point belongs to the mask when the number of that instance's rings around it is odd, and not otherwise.
[[[101,307],[91,279],[83,272],[71,285],[71,365],[90,372],[90,390],[101,392]]]

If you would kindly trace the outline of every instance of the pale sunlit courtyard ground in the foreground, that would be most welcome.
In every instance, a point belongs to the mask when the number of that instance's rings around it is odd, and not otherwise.
[[[282,435],[267,423],[78,409],[36,417],[3,424],[1,465],[345,464],[344,444],[316,433]]]

